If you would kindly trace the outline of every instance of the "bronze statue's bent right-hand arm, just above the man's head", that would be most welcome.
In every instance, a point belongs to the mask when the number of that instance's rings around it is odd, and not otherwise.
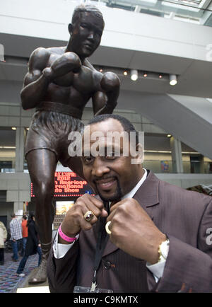
[[[93,95],[94,115],[112,114],[119,97],[120,81],[116,74],[106,72],[100,81],[101,91]]]

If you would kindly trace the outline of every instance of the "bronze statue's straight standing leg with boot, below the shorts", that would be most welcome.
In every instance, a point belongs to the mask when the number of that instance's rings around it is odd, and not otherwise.
[[[52,245],[52,223],[55,209],[54,172],[57,166],[57,157],[47,149],[30,151],[26,156],[30,179],[35,192],[35,223],[40,236],[42,248],[42,262],[30,283],[45,282],[47,279],[47,257]]]

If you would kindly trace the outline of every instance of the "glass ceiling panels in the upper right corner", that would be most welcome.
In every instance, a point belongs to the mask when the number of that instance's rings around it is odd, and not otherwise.
[[[212,0],[93,0],[105,6],[212,27]]]

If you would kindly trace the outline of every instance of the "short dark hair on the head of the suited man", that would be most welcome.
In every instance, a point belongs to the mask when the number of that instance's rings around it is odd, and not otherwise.
[[[136,145],[139,144],[139,133],[136,131],[135,127],[129,120],[127,120],[125,117],[117,114],[102,114],[93,117],[92,120],[88,122],[88,124],[97,124],[98,122],[105,122],[105,120],[118,120],[120,124],[122,124],[122,127],[124,131],[130,133],[135,132],[136,133]]]

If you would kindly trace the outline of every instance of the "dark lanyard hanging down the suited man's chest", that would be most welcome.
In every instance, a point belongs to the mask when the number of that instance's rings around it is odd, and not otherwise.
[[[109,214],[109,203],[104,202],[104,207],[107,210],[107,213]],[[107,241],[108,241],[108,236],[105,230],[106,219],[107,217],[100,217],[100,221],[99,221],[100,224],[98,228],[98,240],[97,240],[97,245],[96,245],[96,250],[95,250],[95,260],[94,260],[94,275],[93,275],[93,282],[90,288],[91,292],[95,291],[95,287],[97,286],[96,273],[100,266],[102,254],[105,250],[105,245],[107,244]]]

